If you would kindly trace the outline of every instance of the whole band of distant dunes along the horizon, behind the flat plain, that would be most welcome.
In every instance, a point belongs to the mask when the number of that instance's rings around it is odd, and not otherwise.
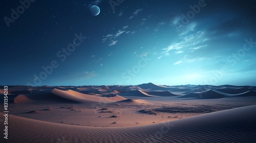
[[[176,97],[194,99],[221,99],[236,97],[256,97],[254,86],[233,85],[180,85],[161,86],[153,83],[135,86],[38,86],[29,90],[27,86],[9,86],[10,102],[73,102],[94,104],[97,102],[117,102],[129,97]],[[0,93],[4,90],[0,89]],[[111,96],[115,95],[115,96]],[[2,99],[3,97],[0,97]]]

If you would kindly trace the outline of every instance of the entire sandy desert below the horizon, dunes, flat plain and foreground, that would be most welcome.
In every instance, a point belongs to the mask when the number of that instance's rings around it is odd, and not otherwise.
[[[8,139],[1,107],[0,142],[256,140],[254,86],[8,87]]]

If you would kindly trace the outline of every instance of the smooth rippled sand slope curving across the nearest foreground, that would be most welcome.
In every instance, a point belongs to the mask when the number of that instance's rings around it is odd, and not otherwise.
[[[159,124],[100,128],[61,125],[9,115],[0,142],[255,142],[256,105]],[[3,116],[3,113],[0,113]]]

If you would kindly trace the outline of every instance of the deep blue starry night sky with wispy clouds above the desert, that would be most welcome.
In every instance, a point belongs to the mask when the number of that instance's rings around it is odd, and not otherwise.
[[[0,85],[256,85],[256,1],[20,2],[0,2]]]

